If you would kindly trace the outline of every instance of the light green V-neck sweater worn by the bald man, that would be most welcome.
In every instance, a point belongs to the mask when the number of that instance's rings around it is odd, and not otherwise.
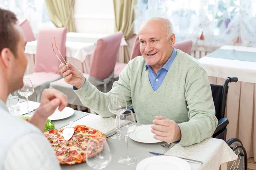
[[[181,130],[181,145],[199,143],[212,136],[218,124],[212,91],[197,59],[177,50],[162,85],[154,91],[145,70],[142,56],[131,60],[107,94],[86,81],[76,90],[81,102],[103,117],[113,114],[108,110],[111,94],[122,92],[127,105],[133,105],[137,121],[152,124],[155,116],[174,120]]]

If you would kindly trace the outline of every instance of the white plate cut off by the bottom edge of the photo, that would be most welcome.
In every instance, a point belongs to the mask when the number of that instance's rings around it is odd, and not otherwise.
[[[143,159],[136,170],[191,170],[191,166],[183,159],[163,155]]]

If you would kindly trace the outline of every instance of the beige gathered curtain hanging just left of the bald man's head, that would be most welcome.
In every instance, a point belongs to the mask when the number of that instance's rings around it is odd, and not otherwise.
[[[137,0],[113,0],[115,11],[115,32],[122,31],[125,39],[134,36],[134,6]],[[128,48],[124,47],[124,61],[130,59]]]

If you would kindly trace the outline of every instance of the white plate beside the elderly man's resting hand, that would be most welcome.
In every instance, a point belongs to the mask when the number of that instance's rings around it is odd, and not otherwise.
[[[157,139],[154,139],[154,133],[151,132],[151,125],[142,125],[137,126],[134,133],[129,135],[129,137],[137,142],[142,143],[158,143],[162,142]]]

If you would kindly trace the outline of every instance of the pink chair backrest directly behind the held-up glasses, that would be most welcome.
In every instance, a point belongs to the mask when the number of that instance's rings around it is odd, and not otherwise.
[[[64,59],[66,58],[67,28],[41,29],[38,33],[38,42],[35,54],[35,72],[61,74],[59,65],[61,62],[65,62],[55,47],[54,37],[56,38],[58,50],[61,52]],[[61,59],[61,62],[54,54],[51,43],[53,44],[55,53]]]

